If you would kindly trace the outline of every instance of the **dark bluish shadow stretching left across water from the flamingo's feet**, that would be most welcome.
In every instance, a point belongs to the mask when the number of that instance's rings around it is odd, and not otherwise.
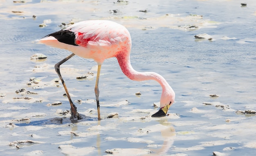
[[[66,123],[78,123],[81,121],[98,121],[98,118],[96,118],[96,117],[85,116],[83,114],[80,114],[80,115],[81,115],[82,119],[80,119],[78,121],[71,121],[71,119],[69,117],[56,117],[56,118],[51,118],[51,119],[31,121],[29,123],[16,123],[15,125],[17,125],[17,126],[51,125],[51,124],[61,125],[61,124],[66,124]]]

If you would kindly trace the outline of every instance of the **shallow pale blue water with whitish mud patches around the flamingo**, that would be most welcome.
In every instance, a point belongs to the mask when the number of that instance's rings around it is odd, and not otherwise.
[[[256,109],[256,3],[253,0],[247,1],[247,7],[241,7],[236,0],[129,0],[121,4],[110,0],[0,2],[0,19],[4,23],[0,25],[3,30],[0,93],[6,94],[0,97],[0,154],[124,156],[145,155],[150,150],[149,155],[205,156],[215,151],[222,155],[254,155],[255,114],[236,113],[236,110]],[[119,12],[111,14],[109,10],[113,9]],[[145,9],[147,13],[139,12]],[[40,28],[38,25],[46,19],[51,22]],[[58,31],[58,25],[72,19],[74,22],[109,19],[125,25],[132,37],[133,68],[159,73],[175,90],[176,102],[168,112],[170,115],[159,119],[148,117],[157,111],[153,102],[159,101],[161,87],[155,81],[131,81],[121,72],[117,60],[111,58],[101,69],[99,89],[104,119],[97,121],[96,104],[87,101],[95,99],[95,79],[76,79],[88,71],[96,74],[97,64],[74,56],[61,66],[67,72],[63,77],[73,101],[83,100],[75,103],[79,113],[92,119],[75,124],[45,123],[64,117],[56,113],[57,109],[70,109],[67,98],[63,97],[63,87],[56,87],[59,83],[53,81],[58,78],[54,64],[70,52],[34,41]],[[184,29],[188,24],[200,29]],[[211,35],[213,40],[195,39],[195,35],[203,33]],[[227,37],[231,39],[226,40]],[[47,59],[30,60],[35,53],[43,53]],[[37,77],[41,82],[28,86],[30,77]],[[21,88],[38,94],[15,93]],[[135,95],[138,91],[139,97]],[[54,101],[61,101],[62,105],[47,106]],[[119,118],[106,119],[110,112],[118,112]],[[30,123],[16,121],[22,118],[30,118]],[[6,127],[9,123],[17,126]],[[18,145],[19,149],[8,146],[17,140],[42,143]],[[116,150],[109,154],[105,152],[107,149]]]

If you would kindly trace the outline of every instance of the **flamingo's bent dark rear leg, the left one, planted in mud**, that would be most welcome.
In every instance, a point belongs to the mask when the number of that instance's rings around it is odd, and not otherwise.
[[[58,62],[57,64],[55,64],[54,68],[55,68],[55,71],[57,72],[58,74],[58,77],[60,77],[61,79],[61,82],[63,84],[63,87],[66,91],[66,94],[67,94],[67,98],[68,98],[68,101],[70,102],[70,111],[71,111],[71,120],[72,122],[77,122],[77,120],[79,119],[82,119],[81,116],[78,114],[78,112],[76,111],[76,105],[74,105],[74,103],[72,102],[71,98],[70,98],[70,94],[68,93],[67,91],[67,87],[65,85],[65,82],[61,76],[61,72],[60,72],[60,66],[61,64],[63,64],[64,62],[66,62],[68,59],[70,59],[71,57],[73,57],[75,54],[72,53],[71,55],[69,55],[68,57],[66,57],[65,59],[61,60],[60,62]]]

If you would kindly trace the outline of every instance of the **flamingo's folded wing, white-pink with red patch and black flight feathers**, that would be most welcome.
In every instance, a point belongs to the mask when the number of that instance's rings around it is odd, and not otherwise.
[[[51,33],[41,40],[53,40],[74,46],[110,46],[126,40],[128,31],[124,26],[108,20],[78,22],[67,29]],[[48,38],[47,38],[48,37]]]

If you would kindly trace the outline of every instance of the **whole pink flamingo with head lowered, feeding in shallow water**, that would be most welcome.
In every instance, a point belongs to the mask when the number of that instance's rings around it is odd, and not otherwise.
[[[60,73],[60,65],[74,55],[86,59],[94,59],[98,64],[96,84],[94,88],[98,120],[100,117],[99,105],[99,76],[101,65],[105,59],[116,57],[119,66],[129,79],[135,81],[155,80],[162,86],[160,98],[160,109],[152,117],[166,116],[168,109],[174,103],[175,93],[167,81],[159,74],[154,72],[137,72],[130,64],[130,51],[132,41],[128,30],[116,22],[108,20],[87,20],[73,24],[64,30],[46,35],[38,40],[48,46],[63,48],[71,51],[72,54],[58,62],[54,67],[61,79],[67,98],[70,102],[71,119],[77,121],[82,117],[77,112],[70,94],[68,93],[65,82]]]

